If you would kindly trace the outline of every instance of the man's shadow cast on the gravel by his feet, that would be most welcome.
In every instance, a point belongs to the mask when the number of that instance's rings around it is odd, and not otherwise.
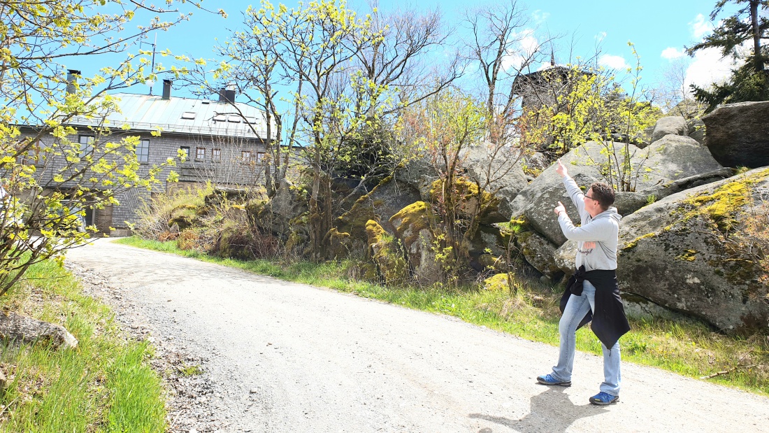
[[[528,415],[520,419],[511,419],[485,414],[470,414],[470,418],[485,419],[504,425],[521,433],[538,431],[566,431],[579,418],[599,415],[607,410],[590,403],[574,405],[564,394],[560,386],[548,387],[538,395],[531,397],[531,408]],[[481,429],[483,433],[491,433],[489,428]]]

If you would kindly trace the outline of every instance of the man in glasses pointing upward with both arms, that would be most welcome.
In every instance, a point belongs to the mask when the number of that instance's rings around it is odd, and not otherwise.
[[[574,368],[576,331],[592,320],[591,328],[604,351],[604,382],[600,392],[590,398],[594,405],[611,405],[619,401],[619,338],[630,330],[617,285],[617,243],[622,218],[614,204],[614,189],[595,182],[582,194],[566,167],[558,160],[555,170],[561,175],[571,201],[577,206],[581,226],[574,227],[561,202],[554,208],[558,224],[566,238],[577,241],[577,271],[569,278],[561,298],[561,353],[558,365],[549,375],[537,381],[543,385],[571,386]]]

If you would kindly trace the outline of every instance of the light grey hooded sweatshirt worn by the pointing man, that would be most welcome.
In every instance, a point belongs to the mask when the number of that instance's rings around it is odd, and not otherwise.
[[[563,181],[582,221],[581,227],[574,227],[566,212],[558,215],[558,224],[561,225],[564,236],[570,241],[577,241],[577,260],[574,265],[577,269],[584,265],[585,271],[616,269],[619,222],[622,216],[617,213],[617,208],[608,208],[595,215],[595,218],[591,217],[584,210],[584,194],[577,182],[569,176],[564,176]]]

